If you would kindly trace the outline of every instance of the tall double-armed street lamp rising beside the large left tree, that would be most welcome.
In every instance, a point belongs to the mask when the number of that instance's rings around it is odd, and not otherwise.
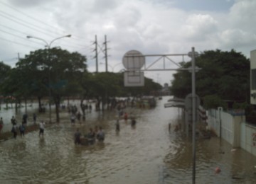
[[[55,38],[53,40],[51,40],[49,43],[46,42],[46,40],[43,40],[43,38],[38,38],[38,37],[34,37],[34,36],[27,36],[26,38],[30,39],[30,38],[33,38],[33,39],[36,39],[36,40],[41,40],[43,42],[46,43],[46,47],[48,47],[48,52],[47,52],[47,59],[50,58],[50,45],[52,45],[52,43],[55,41],[55,40],[59,40],[61,38],[66,38],[66,37],[71,37],[71,35],[64,35],[64,36],[60,36],[58,38]],[[48,78],[49,78],[49,119],[50,119],[50,122],[51,122],[51,107],[50,107],[50,96],[51,96],[51,92],[50,92],[50,64],[48,66],[49,68],[49,72],[48,72]]]

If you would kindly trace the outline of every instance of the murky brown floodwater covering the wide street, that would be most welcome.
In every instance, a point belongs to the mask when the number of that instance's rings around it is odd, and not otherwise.
[[[70,125],[62,113],[59,125],[0,143],[0,183],[192,183],[192,139],[174,132],[181,110],[164,108],[171,97],[157,101],[154,109],[127,108],[137,117],[120,120],[116,111],[87,113],[82,125]],[[171,132],[168,124],[171,123]],[[74,144],[74,133],[104,127],[105,142],[92,146]],[[256,159],[217,137],[196,140],[196,183],[256,183]],[[219,166],[221,172],[215,174]]]

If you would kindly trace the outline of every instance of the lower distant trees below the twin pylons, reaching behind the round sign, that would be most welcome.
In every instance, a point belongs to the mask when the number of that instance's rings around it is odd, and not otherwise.
[[[145,78],[145,84],[141,87],[124,87],[124,73],[100,72],[86,74],[81,81],[84,95],[87,98],[96,98],[103,106],[109,98],[125,96],[146,96],[151,91],[161,89],[160,84],[152,79]],[[86,98],[83,96],[84,98]],[[100,107],[98,107],[100,108]]]

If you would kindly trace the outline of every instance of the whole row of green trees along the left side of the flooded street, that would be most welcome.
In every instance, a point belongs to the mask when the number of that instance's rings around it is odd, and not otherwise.
[[[0,63],[0,70],[1,94],[14,96],[18,102],[37,97],[39,108],[41,99],[50,97],[55,103],[57,122],[64,96],[97,98],[104,106],[112,97],[146,96],[161,89],[160,84],[147,78],[142,87],[124,87],[124,73],[88,73],[86,57],[59,47],[30,52],[14,69]]]

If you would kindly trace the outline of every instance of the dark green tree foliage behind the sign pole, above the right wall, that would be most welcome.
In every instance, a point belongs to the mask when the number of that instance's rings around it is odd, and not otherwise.
[[[202,99],[215,95],[222,100],[249,100],[250,61],[240,52],[205,51],[196,57],[196,66],[201,68],[196,73],[196,93]],[[191,67],[191,62],[183,63],[183,67]],[[174,74],[171,93],[179,98],[191,93],[190,72],[178,71]]]

